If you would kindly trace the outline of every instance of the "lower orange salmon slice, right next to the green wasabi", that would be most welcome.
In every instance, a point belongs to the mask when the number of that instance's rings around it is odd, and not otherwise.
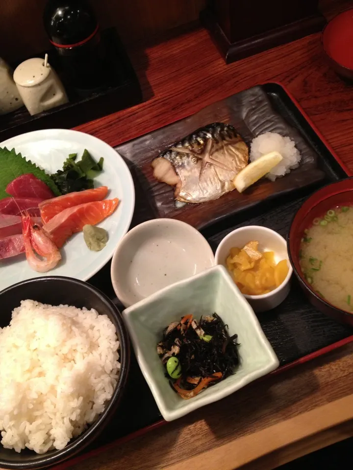
[[[69,207],[54,215],[43,229],[58,248],[61,248],[71,235],[80,232],[86,224],[96,225],[112,214],[119,205],[119,199],[88,202]],[[82,241],[83,243],[83,241]]]

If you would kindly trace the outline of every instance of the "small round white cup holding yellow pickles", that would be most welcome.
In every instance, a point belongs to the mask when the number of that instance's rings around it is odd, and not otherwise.
[[[289,280],[292,276],[293,269],[289,261],[287,242],[286,240],[274,230],[259,225],[248,225],[239,229],[233,230],[223,238],[216,250],[216,264],[223,264],[227,268],[226,259],[229,255],[229,250],[232,247],[242,248],[249,241],[256,240],[259,242],[259,251],[273,251],[275,253],[275,261],[278,263],[281,259],[286,259],[289,271],[285,280],[276,289],[268,294],[262,295],[246,295],[249,304],[255,312],[264,312],[271,310],[281,304],[289,294],[290,283]]]

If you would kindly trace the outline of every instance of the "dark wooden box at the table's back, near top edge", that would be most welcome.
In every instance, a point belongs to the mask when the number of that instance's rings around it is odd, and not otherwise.
[[[227,63],[320,31],[318,0],[209,0],[201,21]]]

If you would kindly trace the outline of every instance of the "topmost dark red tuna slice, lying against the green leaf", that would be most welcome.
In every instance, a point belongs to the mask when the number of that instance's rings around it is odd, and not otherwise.
[[[31,173],[15,178],[6,186],[7,194],[16,197],[37,197],[43,200],[54,197],[51,189]]]

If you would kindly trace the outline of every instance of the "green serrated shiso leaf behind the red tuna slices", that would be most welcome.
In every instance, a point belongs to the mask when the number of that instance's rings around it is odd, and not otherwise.
[[[55,196],[61,195],[61,192],[50,178],[50,175],[47,175],[44,170],[41,170],[30,160],[26,160],[21,153],[16,154],[14,148],[10,151],[6,147],[0,147],[0,199],[9,196],[6,193],[6,186],[11,183],[11,181],[27,173],[31,173],[39,180],[42,180],[43,183],[52,190]]]

